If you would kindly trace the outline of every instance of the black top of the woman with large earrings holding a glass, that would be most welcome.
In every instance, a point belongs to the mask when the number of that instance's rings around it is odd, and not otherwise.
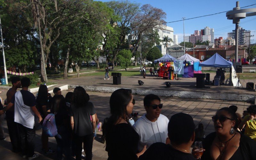
[[[240,134],[240,133],[236,133]],[[236,152],[230,158],[230,160],[254,160],[256,159],[256,142],[251,138],[240,134],[240,142],[239,147],[237,148]],[[201,157],[202,160],[211,160],[211,145],[213,140],[216,137],[216,132],[210,133],[208,136],[205,137],[203,142],[203,147],[205,149],[203,156]]]

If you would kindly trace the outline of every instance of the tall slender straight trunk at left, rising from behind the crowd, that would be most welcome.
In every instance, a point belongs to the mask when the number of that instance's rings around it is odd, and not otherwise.
[[[39,16],[38,4],[36,3],[35,0],[34,0],[34,4],[36,5],[37,25],[38,25],[40,48],[41,48],[41,55],[42,55],[41,56],[41,81],[47,83],[48,79],[47,79],[46,69],[45,69],[44,50],[43,50],[43,44],[42,44],[41,25],[40,25],[40,16]]]

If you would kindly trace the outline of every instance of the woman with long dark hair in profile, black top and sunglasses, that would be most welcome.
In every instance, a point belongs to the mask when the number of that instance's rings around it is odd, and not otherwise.
[[[128,115],[132,114],[135,100],[130,89],[118,89],[112,93],[109,105],[111,116],[106,126],[106,151],[108,160],[138,159],[143,150],[138,153],[139,135],[128,123]]]

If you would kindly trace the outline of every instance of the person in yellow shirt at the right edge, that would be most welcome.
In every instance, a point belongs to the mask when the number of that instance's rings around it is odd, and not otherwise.
[[[247,112],[249,115],[244,116],[238,128],[241,130],[246,124],[244,135],[256,141],[256,105],[249,106]]]

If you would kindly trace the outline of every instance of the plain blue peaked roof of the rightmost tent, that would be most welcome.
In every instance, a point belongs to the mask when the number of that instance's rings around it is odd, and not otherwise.
[[[201,67],[232,67],[232,62],[225,60],[218,53],[215,53],[211,58],[199,63]]]

